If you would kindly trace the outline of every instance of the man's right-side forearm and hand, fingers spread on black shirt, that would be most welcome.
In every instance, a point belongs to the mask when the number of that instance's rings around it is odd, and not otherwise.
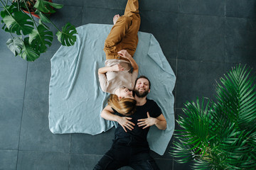
[[[149,112],[147,112],[146,115],[148,118],[138,120],[139,127],[144,126],[142,129],[145,129],[151,125],[156,125],[159,130],[166,130],[166,119],[164,118],[163,114],[159,115],[157,118],[150,117]]]

